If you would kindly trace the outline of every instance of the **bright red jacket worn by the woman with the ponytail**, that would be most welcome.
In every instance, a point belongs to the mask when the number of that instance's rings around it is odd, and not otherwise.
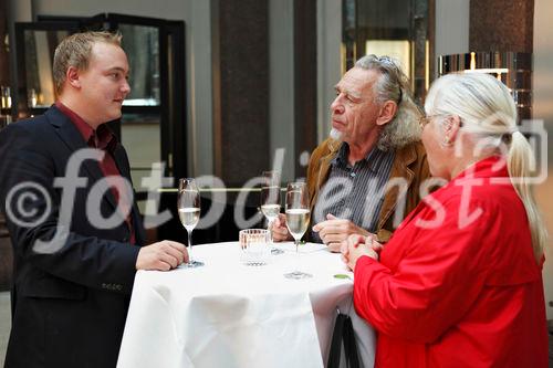
[[[378,330],[377,367],[547,367],[541,265],[498,162],[425,198],[380,263],[357,261],[355,308]]]

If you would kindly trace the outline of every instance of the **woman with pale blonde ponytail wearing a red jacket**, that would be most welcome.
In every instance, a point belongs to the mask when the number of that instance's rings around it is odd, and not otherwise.
[[[357,313],[378,332],[377,367],[546,367],[546,231],[529,183],[533,154],[507,87],[456,74],[421,120],[427,196],[383,248],[352,235]]]

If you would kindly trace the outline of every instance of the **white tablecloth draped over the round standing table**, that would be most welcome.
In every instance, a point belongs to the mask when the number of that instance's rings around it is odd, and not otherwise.
[[[336,307],[352,315],[364,367],[374,360],[373,329],[352,307],[353,282],[338,254],[320,244],[240,263],[237,242],[194,248],[198,269],[139,271],[117,367],[323,367]],[[289,280],[299,266],[312,278]]]

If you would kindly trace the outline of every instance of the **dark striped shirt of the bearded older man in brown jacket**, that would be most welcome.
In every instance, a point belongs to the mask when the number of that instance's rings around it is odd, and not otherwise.
[[[326,214],[332,213],[375,232],[395,151],[383,151],[375,147],[353,167],[347,161],[348,154],[349,146],[343,143],[331,161],[328,180],[319,193],[312,213],[313,223],[326,220]],[[312,239],[322,242],[314,231]]]

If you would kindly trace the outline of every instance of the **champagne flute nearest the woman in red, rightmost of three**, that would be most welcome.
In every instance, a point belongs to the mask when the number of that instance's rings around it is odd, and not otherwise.
[[[299,245],[300,239],[307,230],[310,223],[310,207],[307,187],[305,182],[291,182],[286,188],[286,227],[288,231],[294,236],[296,259],[300,256]],[[293,271],[285,273],[286,278],[307,278],[311,274],[302,271]]]

